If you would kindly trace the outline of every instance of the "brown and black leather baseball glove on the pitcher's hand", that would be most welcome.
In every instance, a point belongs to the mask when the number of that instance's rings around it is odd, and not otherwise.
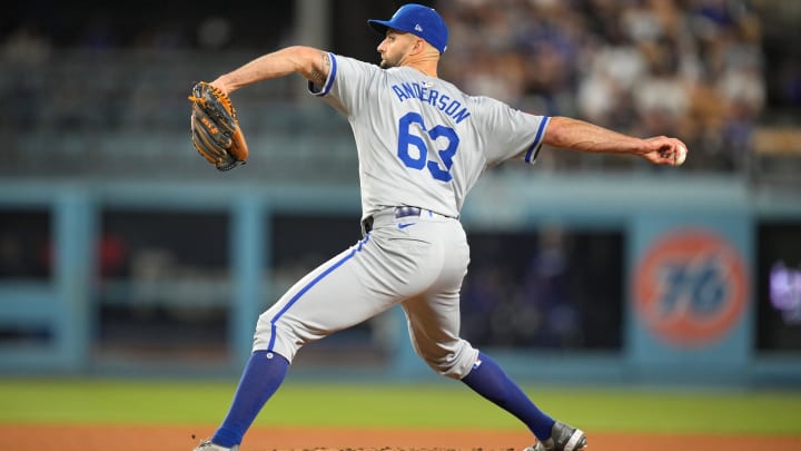
[[[245,136],[228,95],[199,81],[189,96],[191,101],[191,140],[198,154],[219,170],[244,165],[248,157]]]

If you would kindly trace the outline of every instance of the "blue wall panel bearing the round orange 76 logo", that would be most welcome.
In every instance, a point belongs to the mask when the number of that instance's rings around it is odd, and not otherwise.
[[[753,227],[745,215],[634,220],[627,355],[651,380],[745,378],[753,346]]]

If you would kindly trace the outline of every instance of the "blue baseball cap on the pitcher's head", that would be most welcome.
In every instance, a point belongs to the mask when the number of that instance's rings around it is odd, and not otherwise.
[[[379,35],[386,35],[387,28],[405,31],[425,39],[444,53],[447,49],[447,27],[433,8],[408,3],[400,7],[389,20],[370,19],[367,21]]]

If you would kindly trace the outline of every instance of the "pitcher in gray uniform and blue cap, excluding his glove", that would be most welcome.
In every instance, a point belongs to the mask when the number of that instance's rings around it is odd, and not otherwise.
[[[459,290],[469,262],[459,210],[485,170],[508,159],[534,164],[543,145],[629,154],[657,165],[676,165],[684,145],[536,116],[462,92],[437,77],[448,31],[434,9],[406,4],[389,20],[368,23],[384,38],[380,67],[289,47],[210,82],[230,94],[300,73],[310,95],[345,116],[359,159],[364,234],[260,315],[228,414],[195,450],[237,450],[301,346],[394,305],[406,314],[416,353],[520,419],[534,435],[527,450],[584,449],[584,432],[541,411],[496,362],[459,337]]]

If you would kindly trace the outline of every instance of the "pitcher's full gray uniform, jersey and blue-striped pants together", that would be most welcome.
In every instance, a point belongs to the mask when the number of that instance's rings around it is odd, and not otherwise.
[[[267,310],[254,350],[291,361],[305,343],[400,304],[415,351],[439,373],[463,378],[478,351],[458,336],[469,262],[459,210],[486,168],[534,163],[548,118],[409,67],[329,57],[326,84],[309,89],[350,122],[372,232]]]

